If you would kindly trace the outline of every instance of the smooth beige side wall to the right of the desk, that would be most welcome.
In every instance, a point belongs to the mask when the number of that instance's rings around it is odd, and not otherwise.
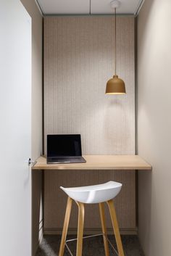
[[[171,255],[171,1],[148,0],[138,17],[139,237],[146,256]]]

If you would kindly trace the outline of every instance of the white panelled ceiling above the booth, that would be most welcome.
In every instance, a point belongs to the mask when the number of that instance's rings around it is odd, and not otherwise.
[[[36,0],[44,15],[110,15],[112,0]],[[118,14],[135,15],[144,0],[120,0]]]

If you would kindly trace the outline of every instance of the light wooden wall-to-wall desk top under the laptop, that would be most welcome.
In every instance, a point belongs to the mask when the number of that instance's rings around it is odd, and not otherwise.
[[[138,155],[83,155],[85,163],[47,165],[46,157],[39,157],[32,170],[152,170]]]

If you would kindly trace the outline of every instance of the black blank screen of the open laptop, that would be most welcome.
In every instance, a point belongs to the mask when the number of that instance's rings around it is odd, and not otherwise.
[[[47,157],[82,156],[80,134],[47,135]]]

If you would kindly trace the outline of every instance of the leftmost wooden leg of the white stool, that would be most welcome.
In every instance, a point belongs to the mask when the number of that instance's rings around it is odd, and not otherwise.
[[[68,197],[66,212],[65,212],[65,216],[64,216],[64,226],[63,226],[63,231],[62,231],[62,239],[61,239],[61,244],[60,244],[60,249],[59,249],[59,256],[64,255],[64,243],[65,243],[66,237],[67,237],[67,228],[68,228],[69,221],[70,221],[71,207],[72,207],[72,199],[70,197]]]

